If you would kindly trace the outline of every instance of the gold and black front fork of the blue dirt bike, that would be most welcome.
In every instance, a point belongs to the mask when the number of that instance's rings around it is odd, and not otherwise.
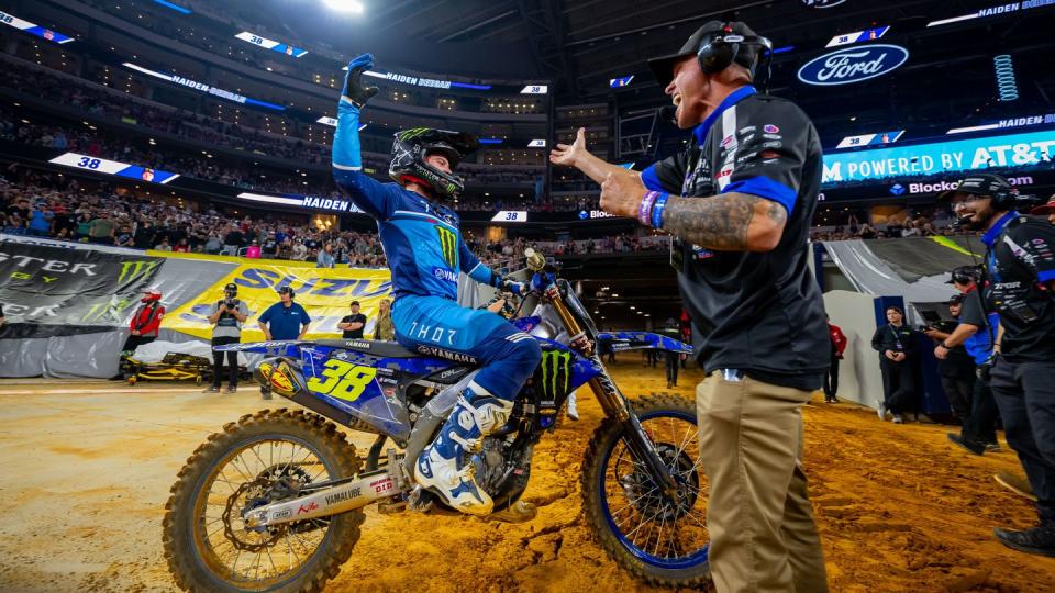
[[[564,298],[560,295],[560,291],[556,286],[549,287],[546,291],[546,299],[549,300],[553,309],[564,323],[568,335],[571,336],[573,342],[575,342],[576,338],[582,335],[582,327],[564,303]],[[668,470],[667,466],[659,459],[659,455],[656,452],[656,447],[652,443],[652,439],[641,427],[641,422],[637,421],[637,414],[634,413],[634,409],[630,405],[623,392],[619,390],[619,387],[617,387],[608,376],[604,363],[601,362],[601,358],[597,353],[588,351],[588,355],[590,361],[601,369],[601,373],[590,379],[589,384],[593,391],[593,395],[597,396],[597,401],[600,402],[601,409],[604,410],[604,414],[608,417],[615,418],[623,425],[623,434],[625,435],[623,438],[626,441],[626,448],[630,449],[631,455],[645,465],[648,474],[659,490],[669,500],[677,501],[678,484],[674,480],[674,477],[670,475],[670,470]]]

